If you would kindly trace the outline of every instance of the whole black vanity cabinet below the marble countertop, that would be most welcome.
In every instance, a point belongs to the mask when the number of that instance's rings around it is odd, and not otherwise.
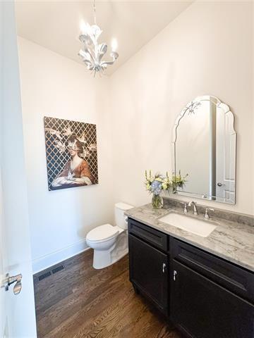
[[[128,218],[130,280],[192,338],[254,337],[254,273]]]

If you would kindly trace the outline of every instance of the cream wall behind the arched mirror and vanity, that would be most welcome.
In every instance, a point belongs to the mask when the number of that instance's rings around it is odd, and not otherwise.
[[[171,170],[176,116],[210,94],[236,117],[236,205],[199,202],[254,214],[252,6],[196,2],[111,76],[115,201],[150,201],[145,169]]]

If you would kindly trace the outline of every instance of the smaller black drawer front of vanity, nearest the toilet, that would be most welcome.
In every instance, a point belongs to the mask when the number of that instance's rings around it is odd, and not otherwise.
[[[150,243],[163,251],[168,250],[167,234],[155,230],[152,227],[148,227],[137,220],[128,218],[128,232],[129,234],[135,234],[135,236],[144,239],[145,242]]]

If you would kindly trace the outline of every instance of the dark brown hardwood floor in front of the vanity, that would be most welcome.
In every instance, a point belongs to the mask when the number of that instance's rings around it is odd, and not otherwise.
[[[180,338],[157,310],[135,294],[128,256],[102,270],[92,250],[63,262],[64,269],[34,276],[39,338]]]

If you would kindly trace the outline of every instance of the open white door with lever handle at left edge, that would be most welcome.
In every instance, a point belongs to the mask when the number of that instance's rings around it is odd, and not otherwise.
[[[0,288],[0,338],[36,337],[32,284],[28,198],[23,149],[18,49],[14,6],[0,2],[1,120],[0,120],[0,282],[6,274],[22,274],[15,295]],[[20,283],[15,287],[18,291]]]

